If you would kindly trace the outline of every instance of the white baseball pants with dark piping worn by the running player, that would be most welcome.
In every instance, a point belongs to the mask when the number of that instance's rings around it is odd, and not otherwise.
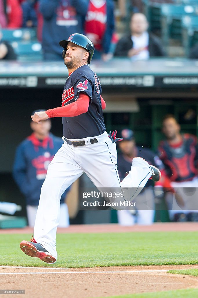
[[[94,138],[94,137],[93,137]],[[41,188],[40,201],[34,226],[34,238],[57,259],[56,229],[60,217],[60,198],[62,193],[83,173],[86,173],[95,186],[116,191],[121,187],[132,188],[132,200],[140,193],[151,177],[150,165],[141,158],[134,158],[129,174],[120,182],[117,170],[117,151],[105,131],[95,136],[97,143],[90,138],[84,140],[86,146],[73,147],[66,142],[58,150],[50,163]],[[64,138],[63,138],[64,139]],[[130,198],[125,198],[129,200]],[[119,201],[121,197],[119,197]],[[123,199],[124,201],[124,199]],[[118,207],[118,209],[123,207]],[[117,209],[117,207],[116,207]]]

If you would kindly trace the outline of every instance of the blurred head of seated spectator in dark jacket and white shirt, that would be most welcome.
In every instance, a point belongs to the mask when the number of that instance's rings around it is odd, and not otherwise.
[[[131,18],[130,29],[132,33],[141,34],[148,29],[148,22],[143,13],[135,13]]]

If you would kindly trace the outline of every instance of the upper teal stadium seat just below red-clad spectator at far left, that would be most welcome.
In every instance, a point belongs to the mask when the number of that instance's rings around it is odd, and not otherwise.
[[[34,41],[37,40],[37,32],[34,28],[1,29],[2,40],[6,41]]]

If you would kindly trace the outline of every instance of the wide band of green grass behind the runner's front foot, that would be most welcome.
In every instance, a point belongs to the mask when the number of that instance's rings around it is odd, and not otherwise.
[[[0,234],[0,265],[95,267],[198,264],[197,232],[57,234],[58,260],[49,265],[24,254],[30,235]],[[188,243],[188,245],[186,245]]]

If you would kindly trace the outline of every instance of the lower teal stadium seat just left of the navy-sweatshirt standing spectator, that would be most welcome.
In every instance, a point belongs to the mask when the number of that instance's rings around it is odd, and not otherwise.
[[[18,60],[42,60],[42,47],[39,42],[13,41],[11,44],[18,55]]]

